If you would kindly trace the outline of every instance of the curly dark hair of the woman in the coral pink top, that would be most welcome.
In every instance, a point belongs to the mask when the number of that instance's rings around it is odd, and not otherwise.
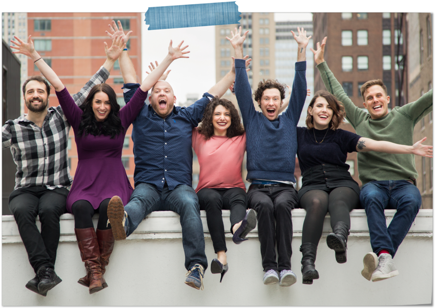
[[[204,111],[203,119],[201,120],[201,126],[198,127],[198,132],[202,134],[206,140],[211,138],[214,133],[213,113],[218,105],[222,105],[224,108],[228,109],[231,116],[231,125],[228,127],[227,137],[232,138],[242,135],[245,129],[236,107],[228,101],[228,99],[219,99],[217,96],[208,103]]]

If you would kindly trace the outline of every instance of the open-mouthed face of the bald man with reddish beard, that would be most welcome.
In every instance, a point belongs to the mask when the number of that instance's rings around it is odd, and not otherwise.
[[[148,100],[154,111],[162,118],[166,118],[174,108],[177,98],[171,85],[164,80],[159,80],[154,85]]]

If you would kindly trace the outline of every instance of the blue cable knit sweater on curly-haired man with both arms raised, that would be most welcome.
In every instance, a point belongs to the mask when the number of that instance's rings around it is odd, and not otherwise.
[[[307,63],[296,62],[289,107],[274,121],[255,110],[245,60],[236,59],[235,69],[234,91],[246,130],[247,179],[295,183],[296,125],[307,97]]]

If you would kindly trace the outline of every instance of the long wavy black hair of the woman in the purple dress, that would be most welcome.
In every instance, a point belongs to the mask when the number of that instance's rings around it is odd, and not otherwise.
[[[107,94],[111,106],[109,115],[103,122],[98,122],[95,119],[94,111],[92,110],[92,101],[95,94],[98,92],[104,92]],[[80,136],[83,135],[83,133],[84,135],[90,133],[94,136],[110,135],[110,139],[113,139],[116,135],[124,132],[124,127],[122,126],[121,119],[118,116],[118,112],[121,107],[116,101],[115,91],[109,85],[100,84],[94,86],[90,90],[89,95],[86,97],[84,103],[80,105],[79,108],[83,110],[82,121],[80,121],[79,125]],[[98,125],[99,123],[101,125]]]

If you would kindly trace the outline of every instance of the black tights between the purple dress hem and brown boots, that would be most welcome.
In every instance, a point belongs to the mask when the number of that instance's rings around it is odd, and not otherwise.
[[[100,203],[100,207],[95,209],[92,205],[86,200],[78,200],[73,203],[71,209],[74,214],[74,228],[76,229],[85,229],[85,228],[93,228],[94,223],[92,222],[92,216],[95,213],[100,213],[100,218],[98,219],[97,229],[107,230],[112,227],[107,226],[107,206],[109,205],[110,199],[104,199]]]

